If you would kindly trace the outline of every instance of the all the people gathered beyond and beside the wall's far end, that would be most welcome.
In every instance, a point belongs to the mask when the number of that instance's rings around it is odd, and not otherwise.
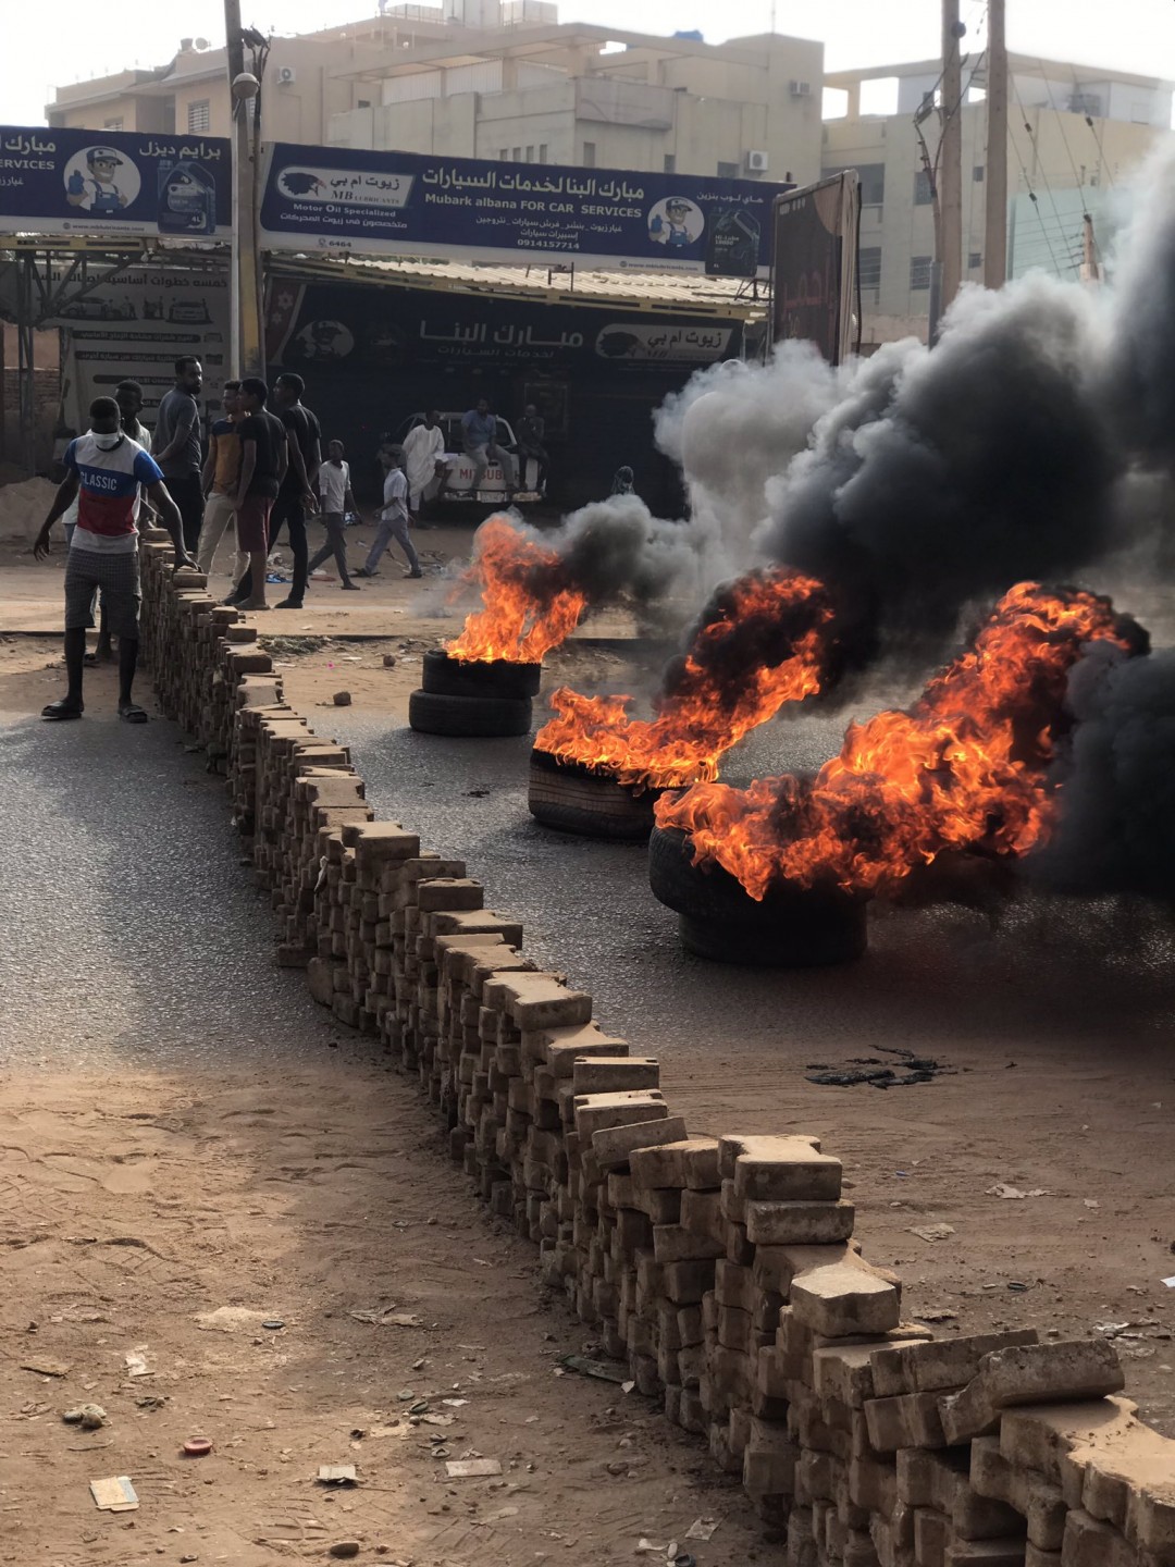
[[[241,610],[301,610],[310,574],[331,558],[343,591],[357,592],[354,578],[376,577],[392,544],[404,555],[404,577],[425,575],[409,530],[426,495],[434,503],[443,501],[453,456],[445,450],[442,415],[436,409],[409,429],[403,445],[381,448],[384,484],[374,516],[376,536],[363,564],[351,570],[345,536],[346,520],[357,511],[351,467],[342,440],[329,440],[323,458],[323,429],[302,401],[302,378],[287,371],[273,387],[257,376],[227,381],[222,414],[208,431],[207,451],[197,403],[202,387],[199,359],[177,359],[175,382],[160,401],[152,437],[139,418],[143,387],[124,381],[113,398],[91,403],[89,429],[66,450],[66,476],[33,545],[34,556],[44,559],[53,525],[64,522],[67,689],[42,710],[45,719],[81,716],[83,671],[88,663],[113,658],[118,638],[118,711],[127,722],[146,722],[132,685],[139,622],[138,522],[152,512],[171,534],[175,564],[199,567],[205,575],[212,574],[216,552],[232,530],[232,589],[224,602]],[[517,464],[498,442],[498,420],[486,398],[462,415],[461,442],[472,462],[473,495],[490,462],[501,469],[508,500],[519,494],[520,473],[531,461],[533,487],[542,489],[550,458],[544,420],[534,404],[526,406],[515,434]],[[313,559],[306,533],[310,516],[321,516],[326,528],[326,541]],[[282,531],[290,541],[293,574],[285,599],[271,605],[268,561]],[[99,605],[97,649],[86,653],[86,632]]]

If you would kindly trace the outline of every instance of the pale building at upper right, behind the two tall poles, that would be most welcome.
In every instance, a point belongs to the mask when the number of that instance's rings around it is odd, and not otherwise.
[[[964,83],[964,279],[981,282],[987,176],[982,56],[978,63],[965,63]],[[938,92],[940,64],[920,61],[840,71],[826,75],[824,86],[841,94],[844,108],[840,118],[824,122],[824,172],[855,168],[862,177],[860,280],[866,342],[906,331],[924,334],[934,207],[915,114],[927,96]],[[1076,277],[1084,213],[1092,215],[1095,237],[1104,248],[1114,186],[1156,141],[1172,135],[1173,88],[1158,77],[1009,56],[1009,276],[1043,266],[1058,276]],[[863,111],[880,94],[891,100],[887,111]],[[923,125],[931,157],[937,124],[935,114]]]

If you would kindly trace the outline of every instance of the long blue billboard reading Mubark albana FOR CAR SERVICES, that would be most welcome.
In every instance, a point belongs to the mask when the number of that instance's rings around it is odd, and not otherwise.
[[[766,277],[771,205],[790,188],[276,143],[262,243],[274,251]]]

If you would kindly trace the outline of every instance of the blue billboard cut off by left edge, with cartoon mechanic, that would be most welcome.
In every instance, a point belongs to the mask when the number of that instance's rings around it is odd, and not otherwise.
[[[0,233],[229,238],[230,144],[218,136],[0,125]]]

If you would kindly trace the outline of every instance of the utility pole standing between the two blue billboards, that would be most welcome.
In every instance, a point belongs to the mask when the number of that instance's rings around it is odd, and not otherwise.
[[[241,0],[224,0],[229,94],[232,102],[232,368],[258,376],[262,357],[262,291],[257,257],[257,143],[252,135],[258,83],[244,69]]]

